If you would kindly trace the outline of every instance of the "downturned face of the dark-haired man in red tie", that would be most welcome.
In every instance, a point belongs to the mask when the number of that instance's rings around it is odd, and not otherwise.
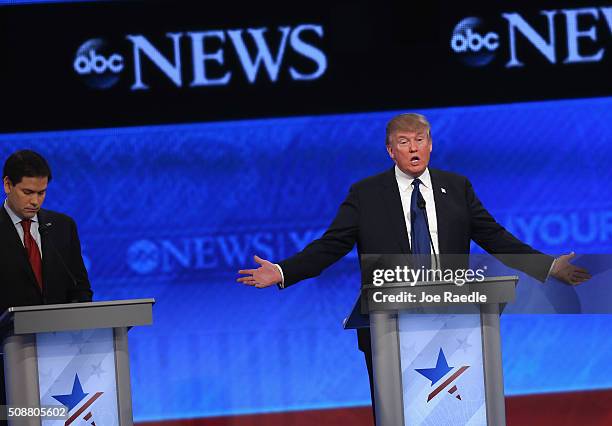
[[[8,177],[4,177],[4,192],[9,207],[21,219],[32,219],[47,195],[47,177],[23,177],[21,182],[13,185]]]

